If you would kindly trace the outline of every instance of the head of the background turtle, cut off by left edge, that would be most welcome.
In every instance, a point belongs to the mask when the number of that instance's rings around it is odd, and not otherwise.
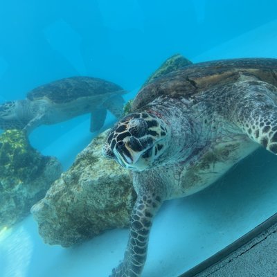
[[[23,129],[28,123],[23,116],[25,100],[9,101],[0,105],[0,129]]]

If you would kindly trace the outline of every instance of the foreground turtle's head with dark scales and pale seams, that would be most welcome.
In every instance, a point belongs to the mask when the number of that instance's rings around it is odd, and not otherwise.
[[[124,168],[142,171],[159,164],[168,148],[169,136],[166,123],[154,114],[129,114],[110,130],[103,154],[116,159]]]

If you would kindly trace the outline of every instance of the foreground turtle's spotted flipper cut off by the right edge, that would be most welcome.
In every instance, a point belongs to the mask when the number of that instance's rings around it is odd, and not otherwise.
[[[253,80],[235,84],[236,96],[229,102],[233,118],[244,134],[277,154],[277,87]]]

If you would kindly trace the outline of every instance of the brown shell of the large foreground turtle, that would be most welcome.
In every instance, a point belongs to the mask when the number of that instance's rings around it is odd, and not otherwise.
[[[137,111],[159,96],[189,98],[211,87],[235,82],[241,73],[254,75],[277,86],[277,59],[246,58],[188,65],[143,87],[132,103],[132,111]]]

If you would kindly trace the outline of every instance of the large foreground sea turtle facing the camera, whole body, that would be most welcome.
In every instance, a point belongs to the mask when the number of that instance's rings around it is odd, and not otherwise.
[[[277,59],[192,64],[143,87],[103,148],[133,171],[137,193],[111,276],[141,276],[163,201],[206,188],[260,145],[277,154]]]

